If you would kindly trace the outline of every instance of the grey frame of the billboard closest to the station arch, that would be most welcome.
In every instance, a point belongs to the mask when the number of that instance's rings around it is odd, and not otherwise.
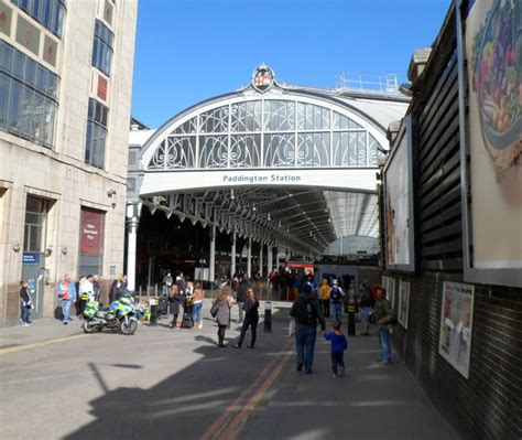
[[[388,259],[388,228],[384,226],[384,261],[385,266],[389,269],[404,271],[404,272],[415,272],[416,271],[416,255],[415,255],[415,206],[414,206],[414,173],[413,173],[413,124],[412,116],[406,115],[399,130],[398,137],[393,142],[393,148],[391,149],[390,155],[387,160],[387,163],[383,169],[383,180],[384,180],[384,225],[388,224],[388,210],[387,210],[387,197],[388,197],[388,170],[393,163],[393,159],[396,154],[398,148],[401,144],[403,138],[405,137],[405,149],[406,149],[406,170],[407,170],[407,247],[409,247],[409,257],[410,262],[407,264],[391,264]]]

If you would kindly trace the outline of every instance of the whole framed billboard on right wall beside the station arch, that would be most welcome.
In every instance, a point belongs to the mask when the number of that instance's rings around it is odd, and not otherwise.
[[[412,124],[406,116],[384,167],[387,266],[415,270]]]

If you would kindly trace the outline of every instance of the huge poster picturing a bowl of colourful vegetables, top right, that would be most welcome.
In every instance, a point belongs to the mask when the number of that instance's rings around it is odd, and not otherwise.
[[[476,1],[466,20],[472,261],[522,269],[522,7]]]

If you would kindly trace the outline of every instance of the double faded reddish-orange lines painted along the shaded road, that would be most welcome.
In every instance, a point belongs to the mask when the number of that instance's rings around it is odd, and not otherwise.
[[[233,400],[221,416],[205,431],[200,440],[218,439],[231,440],[239,433],[249,416],[258,404],[270,390],[275,379],[283,371],[286,361],[292,352],[289,352],[292,341],[289,341],[282,350],[283,356],[271,362],[259,374],[258,380],[244,389],[239,397]],[[248,396],[252,396],[248,398]]]

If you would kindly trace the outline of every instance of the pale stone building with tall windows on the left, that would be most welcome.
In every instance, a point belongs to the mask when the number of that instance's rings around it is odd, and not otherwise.
[[[0,326],[56,282],[123,270],[138,1],[0,3]]]

